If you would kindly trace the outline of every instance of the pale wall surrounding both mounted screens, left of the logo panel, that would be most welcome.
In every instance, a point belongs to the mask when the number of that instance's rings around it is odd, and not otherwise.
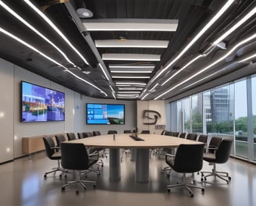
[[[65,121],[51,123],[20,123],[20,81],[36,83],[65,93]],[[33,137],[42,134],[63,132],[82,132],[99,130],[131,130],[136,125],[136,101],[103,100],[88,98],[62,87],[57,83],[30,73],[26,69],[15,66],[0,59],[0,163],[22,156],[22,137]],[[126,108],[125,125],[123,126],[88,126],[85,119],[87,102],[122,103]]]

